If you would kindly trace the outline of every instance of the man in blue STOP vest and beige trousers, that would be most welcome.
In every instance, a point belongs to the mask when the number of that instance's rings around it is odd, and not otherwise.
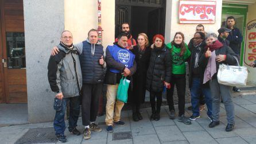
[[[135,55],[126,49],[127,35],[118,35],[118,42],[113,46],[108,45],[106,49],[107,73],[104,83],[107,84],[107,104],[106,104],[106,126],[107,132],[113,132],[113,124],[121,124],[121,110],[125,103],[116,100],[117,89],[122,75],[129,79],[136,71]]]

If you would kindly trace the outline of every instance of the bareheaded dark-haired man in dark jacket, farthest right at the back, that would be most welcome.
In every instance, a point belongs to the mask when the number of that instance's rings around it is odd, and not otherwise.
[[[230,41],[230,48],[235,52],[236,55],[240,57],[241,42],[243,41],[243,36],[238,28],[235,28],[235,18],[233,16],[227,17],[227,28],[231,29],[227,37]],[[233,87],[233,91],[241,92],[239,88]]]

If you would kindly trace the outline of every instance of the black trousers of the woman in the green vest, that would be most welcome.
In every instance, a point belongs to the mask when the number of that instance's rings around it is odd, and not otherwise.
[[[170,83],[170,89],[167,89],[166,99],[169,105],[169,110],[174,110],[173,103],[173,91],[174,85],[177,88],[177,94],[179,99],[179,116],[185,113],[185,89],[186,89],[186,77],[185,75],[172,75]]]

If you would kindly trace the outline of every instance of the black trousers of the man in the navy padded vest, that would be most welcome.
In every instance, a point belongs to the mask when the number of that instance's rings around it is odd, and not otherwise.
[[[95,122],[99,109],[99,98],[102,94],[102,83],[84,84],[82,87],[82,121],[84,126]]]

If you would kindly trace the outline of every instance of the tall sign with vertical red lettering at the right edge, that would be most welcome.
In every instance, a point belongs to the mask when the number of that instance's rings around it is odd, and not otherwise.
[[[243,61],[249,65],[256,60],[256,20],[250,21],[246,27],[245,56]]]

